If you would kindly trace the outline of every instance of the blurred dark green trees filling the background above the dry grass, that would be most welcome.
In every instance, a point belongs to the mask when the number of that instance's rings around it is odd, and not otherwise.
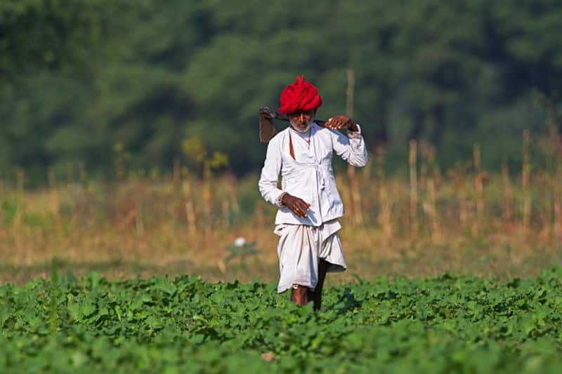
[[[450,166],[481,144],[484,166],[518,163],[521,133],[562,126],[562,3],[504,1],[124,1],[0,3],[0,175],[37,182],[83,163],[195,167],[186,140],[261,168],[257,109],[298,74],[320,88],[319,117],[346,110],[371,149],[400,162],[407,140]],[[552,108],[551,108],[552,109]],[[556,113],[556,105],[554,105]]]

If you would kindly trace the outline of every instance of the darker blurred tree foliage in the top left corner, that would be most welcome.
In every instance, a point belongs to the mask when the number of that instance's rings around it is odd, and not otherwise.
[[[115,7],[103,0],[0,3],[0,79],[72,69],[107,36]]]

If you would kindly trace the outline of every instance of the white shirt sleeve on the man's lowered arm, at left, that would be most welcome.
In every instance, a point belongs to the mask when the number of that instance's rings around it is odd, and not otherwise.
[[[279,142],[270,140],[266,153],[266,161],[261,169],[258,187],[263,199],[275,206],[281,206],[281,198],[285,192],[277,188],[277,179],[281,172],[282,158]]]

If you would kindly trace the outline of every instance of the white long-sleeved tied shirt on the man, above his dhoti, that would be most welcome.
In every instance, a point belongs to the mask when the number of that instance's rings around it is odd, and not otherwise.
[[[296,160],[289,153],[289,131]],[[300,218],[286,206],[280,206],[275,215],[275,225],[320,226],[344,215],[344,205],[332,170],[334,152],[353,166],[365,166],[367,163],[367,149],[360,131],[346,136],[313,123],[310,147],[290,126],[270,140],[258,184],[261,196],[275,204],[283,192],[288,192],[311,204],[306,218]],[[279,175],[282,178],[281,189],[277,188]]]

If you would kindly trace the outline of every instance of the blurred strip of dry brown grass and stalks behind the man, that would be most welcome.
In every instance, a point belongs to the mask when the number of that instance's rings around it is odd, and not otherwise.
[[[522,171],[504,166],[489,175],[481,170],[478,146],[473,160],[442,172],[431,147],[411,142],[407,180],[386,177],[381,150],[368,168],[340,173],[347,208],[341,237],[350,267],[328,282],[443,272],[505,279],[561,263],[558,144],[556,138],[544,170],[530,164],[528,143]],[[20,171],[15,186],[0,185],[0,282],[47,276],[53,258],[63,271],[97,270],[112,278],[274,281],[275,208],[261,200],[256,176],[196,180],[183,174],[111,184],[55,185],[51,177],[51,187],[24,191]],[[237,236],[255,241],[259,254],[227,261],[226,248]]]

